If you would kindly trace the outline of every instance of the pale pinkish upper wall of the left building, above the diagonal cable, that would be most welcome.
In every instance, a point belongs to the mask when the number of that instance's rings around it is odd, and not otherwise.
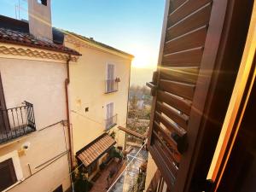
[[[0,58],[0,69],[7,108],[31,102],[37,129],[66,117],[65,64]]]

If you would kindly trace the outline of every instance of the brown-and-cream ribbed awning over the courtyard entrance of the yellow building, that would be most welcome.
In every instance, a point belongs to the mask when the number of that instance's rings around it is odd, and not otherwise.
[[[116,142],[107,133],[97,137],[96,140],[86,145],[77,152],[77,158],[82,161],[84,166],[90,166],[95,160],[99,159]]]

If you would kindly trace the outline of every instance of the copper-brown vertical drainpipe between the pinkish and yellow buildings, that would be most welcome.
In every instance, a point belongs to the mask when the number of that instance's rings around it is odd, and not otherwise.
[[[69,144],[69,154],[70,154],[70,166],[73,170],[73,145],[72,145],[72,130],[70,127],[70,117],[69,117],[69,103],[68,103],[68,84],[70,83],[69,79],[69,61],[71,60],[71,55],[68,55],[67,59],[67,79],[65,80],[65,93],[66,93],[66,111],[67,111],[67,132],[68,132],[68,144]]]

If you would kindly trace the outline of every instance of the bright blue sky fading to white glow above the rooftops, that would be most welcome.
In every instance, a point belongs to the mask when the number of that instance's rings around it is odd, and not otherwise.
[[[165,0],[51,0],[52,24],[135,55],[132,67],[154,68],[164,7]],[[26,0],[0,0],[0,15],[27,20]]]

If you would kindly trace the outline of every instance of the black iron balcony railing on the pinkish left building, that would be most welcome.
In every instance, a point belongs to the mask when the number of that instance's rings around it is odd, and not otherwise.
[[[24,102],[17,108],[0,109],[0,143],[36,131],[32,103]]]

